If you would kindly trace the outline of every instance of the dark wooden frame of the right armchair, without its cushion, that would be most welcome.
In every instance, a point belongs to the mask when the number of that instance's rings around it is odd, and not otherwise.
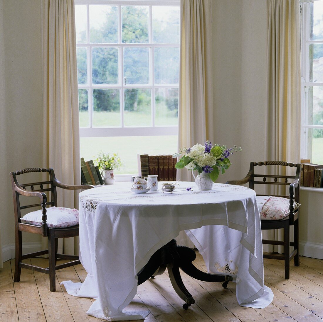
[[[295,176],[288,175],[272,175],[272,174],[255,174],[255,166],[273,166],[273,167],[295,167]],[[272,167],[271,167],[272,168]],[[299,211],[294,211],[294,201],[299,202],[299,181],[300,181],[300,169],[301,164],[288,163],[284,161],[265,161],[265,162],[250,162],[250,170],[244,179],[238,181],[227,181],[228,184],[242,185],[249,183],[249,188],[255,190],[255,184],[259,185],[289,185],[289,196],[287,195],[275,195],[277,197],[283,197],[289,199],[289,214],[280,220],[261,220],[261,229],[284,229],[284,241],[280,240],[268,240],[263,239],[263,244],[269,245],[282,245],[284,246],[284,254],[264,254],[264,258],[269,259],[281,259],[285,261],[285,278],[289,279],[289,262],[294,258],[294,265],[299,266]],[[275,171],[276,173],[276,171]],[[257,178],[262,178],[260,181]],[[269,181],[267,181],[267,178]],[[288,180],[292,179],[293,182],[289,183]],[[272,181],[274,180],[274,181]],[[282,181],[282,182],[281,182]],[[257,196],[264,196],[257,194]],[[294,226],[294,240],[289,240],[289,229],[290,226]],[[294,250],[289,253],[289,246],[294,247]]]

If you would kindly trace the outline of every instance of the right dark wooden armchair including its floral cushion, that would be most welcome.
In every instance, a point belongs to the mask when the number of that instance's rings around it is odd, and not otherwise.
[[[268,173],[273,171],[274,174],[256,174],[255,167],[267,168]],[[278,173],[286,173],[287,167],[296,168],[295,175],[278,175]],[[270,168],[270,169],[268,169]],[[284,169],[285,168],[285,169]],[[257,194],[258,208],[260,209],[261,229],[284,229],[284,241],[263,239],[263,244],[283,245],[284,254],[264,254],[264,258],[282,259],[285,261],[285,278],[289,278],[289,262],[294,258],[295,266],[299,266],[299,224],[298,224],[298,201],[299,201],[299,180],[300,180],[301,164],[287,163],[284,161],[265,161],[265,162],[250,162],[250,170],[244,179],[238,181],[227,181],[228,184],[243,185],[249,183],[249,188],[255,190],[255,185],[269,185],[274,187],[274,193],[267,195],[274,196],[267,201],[261,200]],[[265,170],[265,169],[263,169]],[[278,172],[280,171],[280,172]],[[264,171],[265,172],[265,171]],[[262,178],[260,180],[259,178]],[[291,181],[288,182],[288,181]],[[289,186],[289,195],[286,193],[286,186]],[[287,200],[288,201],[287,201]],[[294,227],[294,240],[289,241],[290,226]],[[289,253],[289,246],[294,247],[294,250]]]

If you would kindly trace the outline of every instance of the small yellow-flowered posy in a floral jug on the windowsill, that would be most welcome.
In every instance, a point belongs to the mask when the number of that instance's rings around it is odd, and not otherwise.
[[[105,184],[113,184],[114,174],[113,170],[120,168],[122,162],[116,153],[104,153],[99,152],[98,158],[95,160],[98,164],[99,169],[101,169],[101,175]]]

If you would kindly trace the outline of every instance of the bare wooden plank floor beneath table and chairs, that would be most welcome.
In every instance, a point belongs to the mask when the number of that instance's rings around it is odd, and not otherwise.
[[[48,266],[43,258],[27,262]],[[7,261],[0,271],[0,322],[103,321],[86,314],[93,299],[70,296],[59,284],[64,280],[83,282],[87,273],[82,265],[58,270],[53,293],[49,292],[48,275],[43,273],[22,269],[20,282],[13,282],[14,264],[13,259]],[[197,281],[182,272],[183,282],[196,302],[184,310],[167,271],[141,284],[127,309],[150,310],[145,322],[323,321],[323,260],[301,257],[299,267],[293,264],[291,261],[290,278],[286,280],[283,261],[264,259],[265,284],[272,289],[274,300],[263,310],[240,307],[233,282],[224,289],[221,283]],[[195,265],[205,270],[199,254]]]

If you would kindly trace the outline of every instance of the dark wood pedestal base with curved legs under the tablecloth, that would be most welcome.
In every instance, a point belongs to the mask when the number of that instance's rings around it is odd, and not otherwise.
[[[223,282],[222,286],[224,288],[227,287],[229,281],[232,281],[232,276],[230,275],[209,274],[197,269],[192,263],[195,258],[196,254],[193,249],[177,246],[176,240],[172,239],[158,249],[138,273],[138,285],[150,277],[153,278],[155,275],[161,275],[167,267],[172,286],[177,295],[185,301],[183,308],[187,310],[195,301],[184,286],[179,268],[187,275],[200,281]]]

